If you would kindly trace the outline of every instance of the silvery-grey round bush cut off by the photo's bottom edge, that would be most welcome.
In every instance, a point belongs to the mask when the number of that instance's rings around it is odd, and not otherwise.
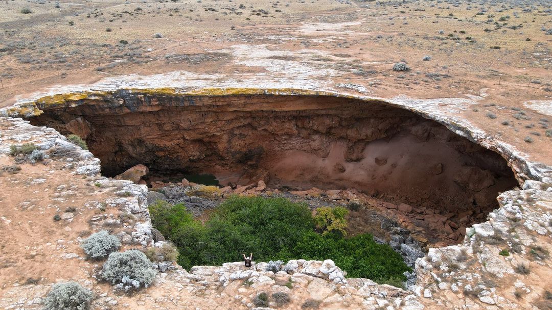
[[[88,310],[92,292],[77,282],[56,283],[44,298],[44,310]]]

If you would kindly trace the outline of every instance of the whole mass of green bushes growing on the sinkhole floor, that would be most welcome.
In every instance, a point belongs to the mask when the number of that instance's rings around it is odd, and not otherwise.
[[[328,208],[330,209],[330,208]],[[343,209],[343,210],[341,210]],[[322,219],[343,219],[325,209]],[[320,210],[319,210],[320,211]],[[329,230],[316,222],[306,204],[285,198],[232,197],[222,203],[205,224],[194,220],[183,204],[159,201],[150,206],[152,224],[178,247],[177,262],[185,269],[194,265],[220,265],[254,253],[258,262],[289,259],[332,259],[348,276],[378,282],[404,281],[410,270],[401,256],[386,244],[375,243],[369,234],[345,238],[344,227]]]

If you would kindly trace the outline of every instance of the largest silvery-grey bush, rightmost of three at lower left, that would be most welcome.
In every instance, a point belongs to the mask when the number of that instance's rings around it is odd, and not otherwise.
[[[113,252],[102,267],[100,278],[111,282],[118,290],[128,292],[140,287],[148,287],[155,278],[156,271],[146,255],[138,250]]]

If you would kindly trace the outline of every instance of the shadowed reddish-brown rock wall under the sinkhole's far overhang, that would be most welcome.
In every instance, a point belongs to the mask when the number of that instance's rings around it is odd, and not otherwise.
[[[86,140],[105,176],[143,164],[150,181],[209,173],[221,186],[354,188],[413,206],[412,221],[443,215],[460,236],[518,185],[499,154],[383,101],[118,91],[39,108],[30,122]]]

